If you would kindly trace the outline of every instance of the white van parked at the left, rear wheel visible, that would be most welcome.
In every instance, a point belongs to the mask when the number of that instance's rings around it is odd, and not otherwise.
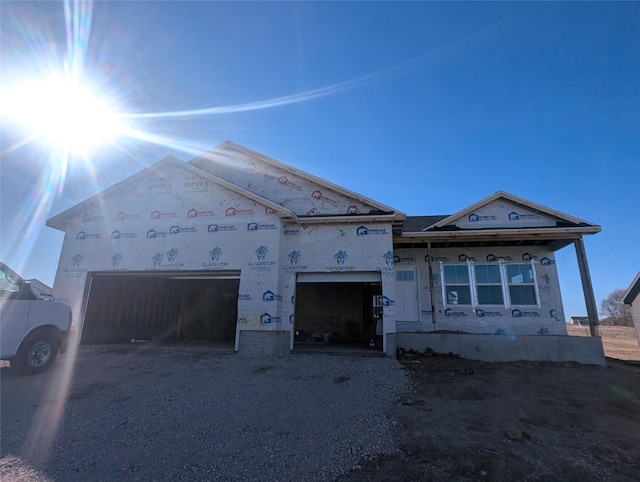
[[[71,309],[39,297],[4,263],[0,271],[0,359],[21,375],[45,372],[66,350]]]

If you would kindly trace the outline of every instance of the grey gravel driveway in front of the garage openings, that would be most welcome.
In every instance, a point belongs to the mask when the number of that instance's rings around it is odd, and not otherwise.
[[[3,478],[332,480],[396,450],[385,409],[409,388],[388,358],[151,346],[71,358],[28,378],[2,368]]]

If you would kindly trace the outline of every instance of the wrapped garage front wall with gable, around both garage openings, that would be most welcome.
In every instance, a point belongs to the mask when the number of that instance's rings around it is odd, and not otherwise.
[[[392,249],[390,223],[284,223],[270,208],[166,166],[67,220],[54,295],[72,307],[79,336],[88,273],[237,270],[236,350],[243,330],[287,332],[292,345],[296,273],[377,271],[392,299]],[[392,303],[383,326],[395,331]]]

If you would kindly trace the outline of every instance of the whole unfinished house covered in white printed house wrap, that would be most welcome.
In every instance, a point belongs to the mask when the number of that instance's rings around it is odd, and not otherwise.
[[[390,354],[401,333],[566,335],[554,252],[599,231],[507,193],[402,212],[225,142],[167,157],[51,218],[54,296],[79,341],[311,343]]]

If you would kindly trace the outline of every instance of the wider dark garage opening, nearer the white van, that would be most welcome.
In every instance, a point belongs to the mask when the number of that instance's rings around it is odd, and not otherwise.
[[[239,272],[92,273],[81,343],[206,341],[233,346]]]

